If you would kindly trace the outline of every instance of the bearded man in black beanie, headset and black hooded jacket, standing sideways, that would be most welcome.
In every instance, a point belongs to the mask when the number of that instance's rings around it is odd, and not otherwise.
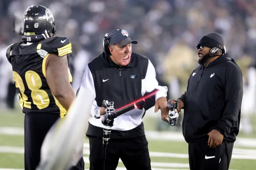
[[[218,33],[203,36],[198,45],[200,64],[177,100],[184,109],[183,136],[189,144],[191,170],[228,170],[239,131],[243,80],[240,68],[226,56]]]

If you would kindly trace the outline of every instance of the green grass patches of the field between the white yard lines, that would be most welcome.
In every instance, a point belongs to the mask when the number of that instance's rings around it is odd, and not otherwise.
[[[144,125],[146,130],[156,130],[159,125],[159,120],[155,118],[145,116]],[[252,117],[253,125],[256,125],[256,117]],[[24,114],[20,109],[12,111],[0,111],[0,127],[20,127],[23,128]],[[164,122],[160,122],[166,124]],[[166,125],[164,125],[166,126]],[[171,130],[175,130],[175,128]],[[170,129],[169,129],[170,130]],[[256,127],[254,127],[256,131]],[[239,134],[238,137],[255,137],[256,134]],[[160,141],[160,140],[149,140],[149,151],[150,152],[168,152],[168,153],[188,153],[188,144],[186,142],[175,142],[175,141]],[[85,138],[84,142],[89,142]],[[3,135],[0,134],[0,146],[19,146],[24,147],[24,137],[22,135]],[[243,148],[243,147],[241,147]],[[248,147],[246,148],[248,149]],[[89,156],[89,155],[84,155]],[[186,163],[188,164],[187,158],[168,158],[168,157],[153,157],[151,156],[152,162],[166,162],[166,163]],[[123,163],[119,162],[120,167],[124,167]],[[232,159],[230,169],[236,170],[252,170],[256,167],[256,160],[245,160],[245,159]],[[0,168],[18,168],[24,169],[24,156],[23,154],[12,154],[12,153],[0,153]],[[89,164],[85,164],[85,168],[89,168]],[[184,169],[184,168],[182,168]],[[186,168],[185,168],[186,169]],[[188,168],[187,168],[188,169]]]

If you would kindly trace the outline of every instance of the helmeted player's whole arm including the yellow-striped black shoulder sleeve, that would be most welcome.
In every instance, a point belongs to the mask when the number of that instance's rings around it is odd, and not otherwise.
[[[38,44],[37,52],[44,57],[43,72],[52,94],[68,110],[75,99],[67,58],[72,53],[71,42],[66,37],[50,37]]]

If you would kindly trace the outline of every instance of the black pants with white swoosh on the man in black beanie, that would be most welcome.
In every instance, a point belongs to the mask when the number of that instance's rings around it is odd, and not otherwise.
[[[188,144],[190,170],[228,170],[234,142],[210,148],[207,140]]]

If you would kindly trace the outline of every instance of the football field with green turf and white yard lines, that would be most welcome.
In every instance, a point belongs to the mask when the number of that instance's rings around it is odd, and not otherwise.
[[[156,113],[158,114],[158,113]],[[254,121],[255,128],[255,118]],[[0,111],[0,170],[24,169],[24,114]],[[155,131],[156,118],[145,116],[152,170],[188,170],[188,144],[181,132]],[[164,122],[163,122],[164,123]],[[252,170],[256,167],[256,135],[239,134],[233,149],[230,169]],[[89,169],[89,141],[84,139],[85,168]],[[119,161],[117,170],[125,170]]]

